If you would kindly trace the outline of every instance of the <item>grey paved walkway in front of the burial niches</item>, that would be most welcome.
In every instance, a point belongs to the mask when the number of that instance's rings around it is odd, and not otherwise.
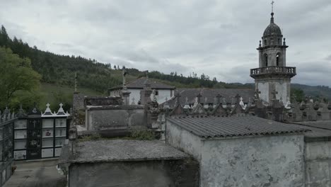
[[[57,159],[16,162],[17,169],[4,187],[65,187],[66,177],[57,171]]]

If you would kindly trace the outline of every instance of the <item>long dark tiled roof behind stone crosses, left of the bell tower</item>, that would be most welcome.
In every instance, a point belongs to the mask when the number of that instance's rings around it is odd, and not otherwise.
[[[253,89],[177,89],[180,93],[180,105],[184,106],[186,98],[188,103],[194,103],[195,98],[198,94],[202,95],[200,99],[201,103],[205,103],[207,98],[207,103],[215,103],[215,97],[217,94],[220,94],[223,98],[226,98],[227,103],[231,103],[232,98],[234,98],[237,94],[243,97],[243,102],[248,103],[248,99],[254,99],[254,90]],[[223,98],[221,98],[221,102],[223,102]],[[175,98],[168,101],[169,106],[173,106],[175,104]]]

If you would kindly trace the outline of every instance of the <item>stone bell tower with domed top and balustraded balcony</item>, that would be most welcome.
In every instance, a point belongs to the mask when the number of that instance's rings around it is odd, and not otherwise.
[[[257,48],[259,67],[250,69],[250,77],[255,79],[255,90],[263,101],[272,103],[276,98],[285,104],[291,95],[291,78],[296,75],[296,67],[286,67],[286,48],[289,46],[274,23],[273,11],[271,16]]]

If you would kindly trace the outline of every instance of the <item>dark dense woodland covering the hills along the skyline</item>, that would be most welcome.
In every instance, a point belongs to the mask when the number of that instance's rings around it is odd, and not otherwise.
[[[79,86],[105,94],[108,88],[117,86],[122,82],[120,71],[122,67],[118,64],[112,64],[112,62],[100,63],[96,60],[86,59],[85,57],[56,55],[52,52],[45,52],[37,49],[36,46],[30,47],[28,43],[16,37],[9,38],[4,26],[1,26],[0,30],[0,47],[11,48],[13,53],[19,55],[21,58],[28,57],[33,69],[41,75],[40,81],[42,83],[74,86],[75,73],[77,73]],[[139,69],[127,68],[127,71],[129,73],[129,80],[146,76],[146,72],[140,71]],[[159,79],[166,84],[171,84],[176,87],[205,87],[216,89],[253,88],[253,84],[227,84],[222,81],[217,81],[216,78],[210,78],[206,74],[197,75],[194,72],[192,72],[189,77],[184,77],[177,72],[163,74],[153,71],[149,72],[149,77]],[[298,89],[294,91],[294,93],[301,93],[300,90],[302,89],[305,91],[305,94],[311,96],[331,98],[331,89],[327,86],[294,84],[293,87]],[[66,99],[66,101],[68,101],[68,99]]]

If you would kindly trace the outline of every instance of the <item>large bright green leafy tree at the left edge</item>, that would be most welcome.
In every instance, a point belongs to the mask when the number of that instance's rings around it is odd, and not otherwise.
[[[39,88],[40,74],[31,67],[28,58],[13,54],[11,49],[0,47],[0,108],[11,104],[18,91]]]

